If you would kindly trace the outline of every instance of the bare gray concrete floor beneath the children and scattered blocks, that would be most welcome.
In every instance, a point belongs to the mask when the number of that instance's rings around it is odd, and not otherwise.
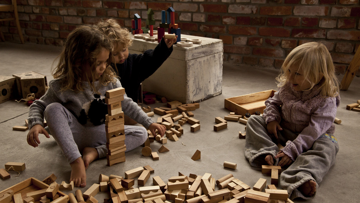
[[[59,47],[37,44],[0,43],[0,75],[11,76],[26,71],[36,71],[52,79],[50,67],[59,53]],[[248,93],[276,89],[275,76],[278,70],[261,69],[255,67],[242,67],[224,64],[222,94],[200,103],[200,108],[193,111],[195,119],[200,120],[201,130],[190,132],[190,124],[183,126],[184,134],[177,142],[168,141],[165,146],[170,151],[158,153],[159,160],[153,161],[150,157],[141,155],[138,147],[126,153],[126,162],[112,167],[106,166],[106,159],[96,160],[87,169],[87,186],[81,188],[84,192],[92,184],[98,183],[100,173],[104,175],[124,176],[124,172],[133,168],[150,165],[155,169],[145,186],[152,185],[152,177],[160,176],[167,181],[171,176],[177,176],[178,172],[185,175],[189,173],[203,175],[211,173],[216,179],[232,173],[235,178],[253,186],[259,178],[265,178],[270,183],[270,177],[261,174],[260,169],[249,165],[244,157],[245,140],[238,138],[238,132],[244,131],[245,125],[238,122],[229,122],[228,128],[219,132],[213,131],[215,117],[229,114],[224,108],[224,99]],[[340,78],[342,76],[339,76]],[[341,91],[341,105],[338,108],[337,118],[342,120],[336,124],[335,133],[340,150],[337,154],[336,164],[330,169],[328,175],[319,184],[314,199],[306,202],[358,202],[359,183],[359,112],[346,110],[346,105],[360,99],[360,78],[354,78],[347,91]],[[145,105],[143,105],[145,106]],[[147,105],[146,105],[147,106]],[[149,105],[152,108],[165,106],[163,103]],[[0,164],[6,162],[24,162],[26,170],[18,177],[11,172],[11,178],[0,180],[0,190],[4,190],[29,177],[43,180],[46,176],[54,173],[57,182],[69,181],[70,167],[62,156],[60,148],[53,138],[40,136],[41,144],[33,148],[26,142],[28,131],[12,131],[14,125],[24,125],[28,116],[28,107],[23,102],[14,100],[0,104]],[[156,121],[158,115],[153,118]],[[157,151],[161,144],[153,142],[151,148]],[[191,156],[196,150],[201,151],[201,159],[193,161]],[[224,161],[237,163],[237,169],[226,169],[222,166]],[[4,165],[3,165],[4,166]],[[135,186],[137,186],[135,184]],[[76,188],[78,189],[78,188]],[[73,193],[75,193],[74,189]],[[69,193],[65,191],[65,193]],[[103,202],[108,194],[100,192],[96,199]],[[296,199],[294,202],[305,202]]]

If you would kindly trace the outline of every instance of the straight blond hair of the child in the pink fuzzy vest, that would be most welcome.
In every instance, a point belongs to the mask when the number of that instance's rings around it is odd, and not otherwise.
[[[335,75],[335,67],[328,49],[320,42],[309,42],[294,48],[281,67],[276,78],[278,87],[288,82],[289,67],[298,67],[303,76],[311,84],[320,85],[320,95],[323,97],[336,97],[339,94],[339,81]]]

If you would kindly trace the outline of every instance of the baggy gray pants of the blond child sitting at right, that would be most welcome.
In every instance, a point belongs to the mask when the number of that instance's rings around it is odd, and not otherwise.
[[[249,118],[246,125],[245,157],[251,166],[268,165],[265,157],[270,154],[274,158],[279,152],[277,143],[285,146],[288,140],[293,141],[297,137],[297,134],[283,129],[278,131],[278,139],[276,140],[269,136],[266,129],[265,120],[262,116],[252,115]],[[316,187],[318,187],[318,183],[323,180],[330,167],[335,163],[338,150],[339,145],[336,138],[332,134],[324,133],[309,150],[300,154],[280,175],[280,186],[288,191],[289,198],[310,199],[314,197],[315,195],[305,197],[297,188],[310,180],[315,181]],[[278,159],[274,159],[274,165],[278,161]]]

